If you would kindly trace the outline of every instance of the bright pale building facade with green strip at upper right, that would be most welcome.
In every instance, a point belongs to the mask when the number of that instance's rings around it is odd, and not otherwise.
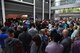
[[[80,0],[55,0],[51,10],[55,11],[54,17],[80,17]]]

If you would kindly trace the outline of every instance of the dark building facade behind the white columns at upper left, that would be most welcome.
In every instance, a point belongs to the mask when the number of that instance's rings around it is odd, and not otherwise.
[[[0,4],[1,6],[4,4],[4,9],[0,6],[0,11],[2,11],[0,17],[4,20],[3,22],[10,14],[28,15],[28,18],[34,17],[34,0],[4,0],[4,3],[2,1],[0,0]],[[49,19],[49,0],[44,0],[44,3],[43,0],[35,0],[35,18],[42,19],[43,16],[44,19]]]

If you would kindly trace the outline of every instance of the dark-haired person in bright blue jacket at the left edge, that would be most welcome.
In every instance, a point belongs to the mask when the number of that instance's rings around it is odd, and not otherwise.
[[[1,33],[0,33],[0,45],[1,45],[1,48],[4,50],[5,48],[5,39],[8,38],[8,34],[6,33],[6,27],[2,27],[1,28]]]

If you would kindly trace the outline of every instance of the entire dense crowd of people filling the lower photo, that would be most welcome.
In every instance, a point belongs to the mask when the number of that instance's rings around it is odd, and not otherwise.
[[[80,53],[80,19],[6,21],[0,53]]]

